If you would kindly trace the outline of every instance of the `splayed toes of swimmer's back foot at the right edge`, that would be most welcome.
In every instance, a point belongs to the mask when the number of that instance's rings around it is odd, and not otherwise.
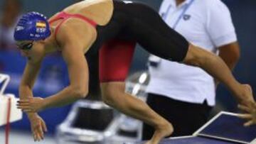
[[[245,113],[238,116],[246,120],[244,126],[252,126],[256,124],[256,103],[253,104],[252,108],[249,108],[245,105],[239,105],[238,108],[242,111],[245,111]]]

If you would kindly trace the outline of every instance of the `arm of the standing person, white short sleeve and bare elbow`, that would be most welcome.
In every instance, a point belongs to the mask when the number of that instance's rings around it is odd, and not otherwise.
[[[205,11],[206,32],[219,50],[218,56],[233,70],[240,57],[240,49],[230,10],[222,1],[207,1]]]

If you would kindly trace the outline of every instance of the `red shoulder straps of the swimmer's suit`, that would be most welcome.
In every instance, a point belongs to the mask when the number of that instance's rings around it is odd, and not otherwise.
[[[58,13],[57,16],[55,16],[55,18],[53,18],[52,20],[49,21],[49,23],[51,24],[55,21],[63,19],[63,21],[61,21],[58,24],[58,26],[55,28],[55,32],[54,32],[55,39],[56,39],[56,34],[58,33],[58,30],[60,29],[60,26],[62,25],[62,23],[64,23],[66,20],[68,20],[68,18],[80,18],[80,19],[86,21],[87,23],[90,23],[90,25],[92,25],[94,28],[96,28],[96,26],[97,26],[97,23],[95,21],[92,21],[90,18],[87,18],[80,14],[69,14],[69,13],[65,13],[64,11],[61,11],[60,13]]]

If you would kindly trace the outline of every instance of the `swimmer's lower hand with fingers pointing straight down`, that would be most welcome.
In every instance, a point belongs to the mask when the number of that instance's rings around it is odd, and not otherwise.
[[[35,141],[43,140],[44,132],[47,132],[46,123],[40,116],[38,116],[38,114],[28,116],[28,119],[31,122],[31,132],[33,134],[33,139]]]

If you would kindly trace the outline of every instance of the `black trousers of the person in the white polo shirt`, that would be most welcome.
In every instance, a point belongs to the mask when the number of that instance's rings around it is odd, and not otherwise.
[[[157,94],[148,94],[146,103],[173,124],[174,133],[171,136],[192,135],[207,122],[212,109],[206,102],[191,104]],[[154,128],[143,123],[142,140],[149,140],[153,134]]]

